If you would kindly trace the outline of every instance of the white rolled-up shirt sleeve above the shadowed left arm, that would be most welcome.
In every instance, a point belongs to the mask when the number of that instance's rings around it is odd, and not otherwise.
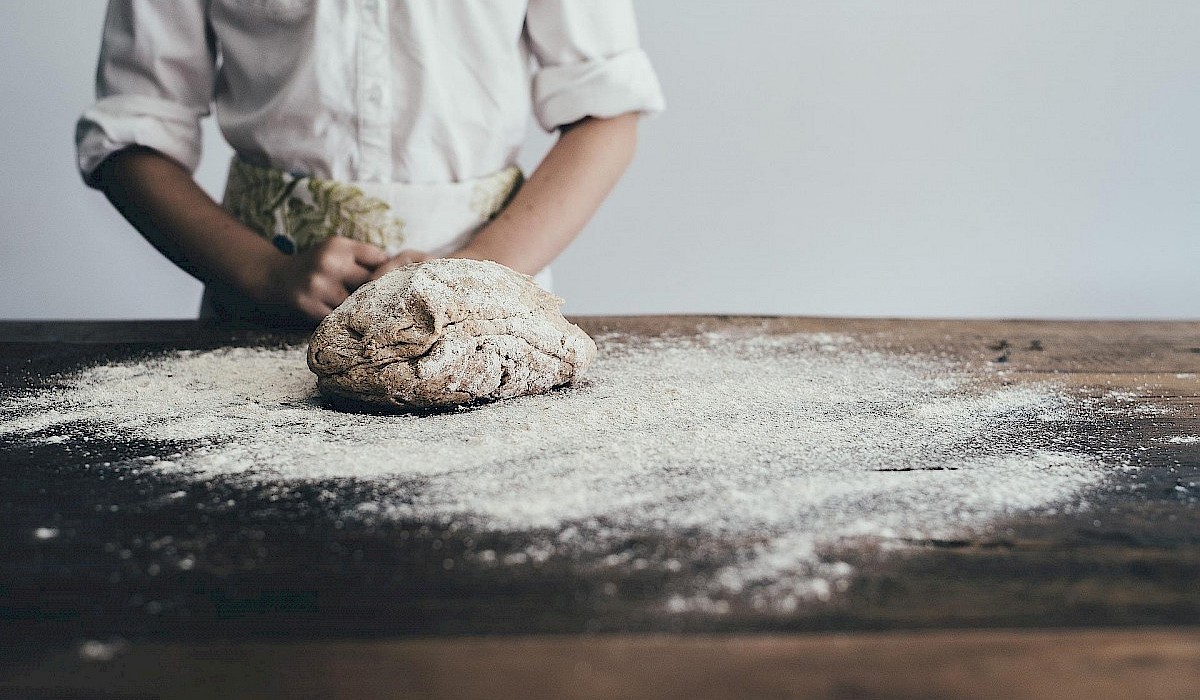
[[[216,79],[206,0],[110,0],[96,97],[76,125],[84,181],[128,148],[151,148],[187,168],[200,161],[200,119]]]

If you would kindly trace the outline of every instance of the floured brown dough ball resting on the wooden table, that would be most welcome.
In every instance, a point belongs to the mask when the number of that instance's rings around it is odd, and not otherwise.
[[[308,367],[350,406],[436,408],[540,394],[595,358],[563,300],[504,265],[437,259],[356,289],[313,333]]]

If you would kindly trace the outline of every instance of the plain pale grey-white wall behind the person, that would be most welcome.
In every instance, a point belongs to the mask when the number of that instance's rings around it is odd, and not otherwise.
[[[1200,317],[1200,2],[638,11],[668,113],[556,264],[569,311]],[[0,8],[0,318],[194,315],[74,173],[102,16]]]

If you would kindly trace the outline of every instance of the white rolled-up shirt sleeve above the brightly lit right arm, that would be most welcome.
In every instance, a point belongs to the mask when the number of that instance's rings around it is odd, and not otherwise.
[[[526,32],[539,64],[534,114],[546,131],[584,116],[662,112],[632,0],[530,0]]]

